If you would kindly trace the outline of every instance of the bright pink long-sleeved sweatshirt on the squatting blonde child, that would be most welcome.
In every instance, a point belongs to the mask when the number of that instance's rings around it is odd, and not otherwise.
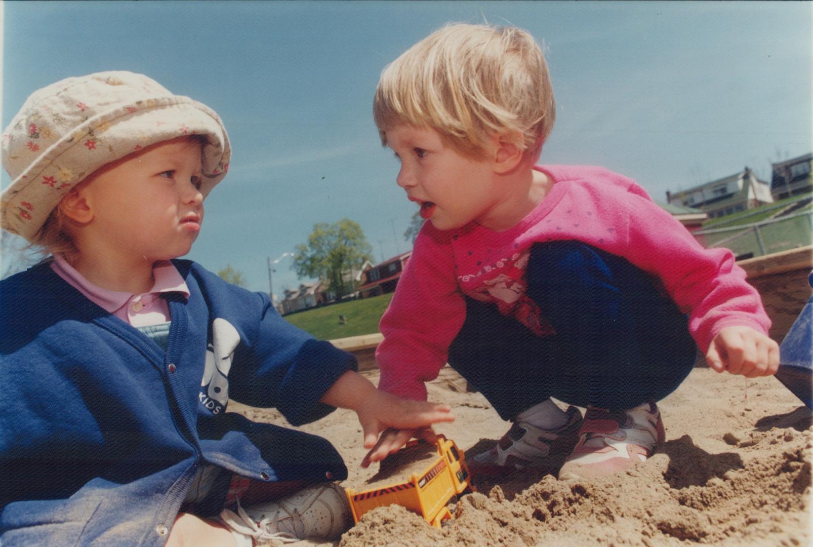
[[[538,242],[578,240],[657,276],[689,313],[689,332],[702,352],[724,326],[750,326],[767,334],[771,321],[733,253],[704,249],[632,179],[599,167],[536,168],[554,186],[510,230],[494,232],[470,223],[441,231],[424,224],[381,318],[380,389],[426,399],[424,383],[446,364],[449,345],[463,326],[463,295],[492,302],[537,335],[552,334],[525,294],[525,265]]]

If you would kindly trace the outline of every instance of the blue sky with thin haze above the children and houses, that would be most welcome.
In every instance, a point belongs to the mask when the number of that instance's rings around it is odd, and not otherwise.
[[[811,144],[811,2],[2,2],[2,125],[33,90],[143,72],[215,109],[231,171],[189,257],[268,290],[267,257],[317,222],[359,222],[376,260],[415,205],[380,147],[382,68],[452,21],[546,45],[557,118],[541,163],[598,164],[656,200]],[[9,183],[2,173],[2,186]],[[2,260],[15,260],[6,253]],[[298,279],[280,260],[274,291]]]

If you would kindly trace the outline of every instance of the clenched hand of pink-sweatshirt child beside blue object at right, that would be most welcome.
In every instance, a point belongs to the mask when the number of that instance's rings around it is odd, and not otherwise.
[[[711,340],[706,362],[717,372],[770,376],[779,369],[779,344],[750,326],[727,326]]]

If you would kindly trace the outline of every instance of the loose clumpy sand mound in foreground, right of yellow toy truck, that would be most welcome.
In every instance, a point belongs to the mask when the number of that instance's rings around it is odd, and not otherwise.
[[[785,435],[775,433],[766,440]],[[440,531],[401,507],[373,510],[340,545],[807,545],[799,528],[811,482],[809,433],[747,463],[729,457],[692,466],[697,448],[685,436],[609,479],[547,475],[512,501],[494,486],[488,496],[464,496]]]

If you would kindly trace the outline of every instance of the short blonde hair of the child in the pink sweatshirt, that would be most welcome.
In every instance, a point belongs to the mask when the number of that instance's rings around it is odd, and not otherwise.
[[[536,160],[556,114],[545,56],[528,32],[450,24],[381,72],[373,115],[385,146],[386,130],[414,125],[463,155],[482,154],[497,133]]]

